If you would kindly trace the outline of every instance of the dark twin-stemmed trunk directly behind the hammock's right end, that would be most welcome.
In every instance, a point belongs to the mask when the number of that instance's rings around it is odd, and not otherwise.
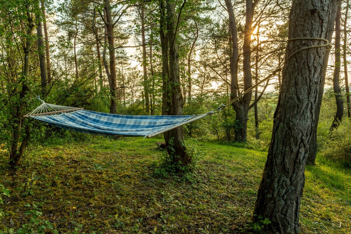
[[[167,20],[165,13],[167,12]],[[177,39],[177,16],[175,2],[160,0],[160,39],[162,48],[163,115],[183,115],[183,96],[179,76],[179,49]],[[167,22],[167,23],[166,23]],[[165,30],[167,30],[165,33]],[[184,146],[183,126],[164,133],[166,148],[177,172],[191,162]]]

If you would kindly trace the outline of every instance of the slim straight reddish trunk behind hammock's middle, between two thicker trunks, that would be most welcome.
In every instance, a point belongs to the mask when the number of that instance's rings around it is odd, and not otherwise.
[[[144,75],[144,95],[145,95],[145,112],[150,113],[150,101],[149,101],[149,85],[147,80],[147,70],[146,70],[146,42],[145,42],[145,5],[141,4],[141,43],[143,48],[143,75]]]

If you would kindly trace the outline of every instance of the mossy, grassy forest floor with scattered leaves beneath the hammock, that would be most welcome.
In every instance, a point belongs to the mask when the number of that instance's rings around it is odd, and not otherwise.
[[[18,171],[0,154],[0,233],[247,233],[267,153],[197,142],[206,154],[180,178],[160,168],[157,141],[53,140]],[[318,157],[305,174],[303,233],[350,234],[351,169]]]

